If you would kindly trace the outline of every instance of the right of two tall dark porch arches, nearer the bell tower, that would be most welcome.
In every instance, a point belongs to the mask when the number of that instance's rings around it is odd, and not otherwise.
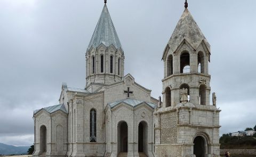
[[[147,150],[148,150],[147,134],[148,134],[147,123],[145,121],[141,121],[139,123],[139,130],[138,130],[138,151],[145,154],[147,154]]]

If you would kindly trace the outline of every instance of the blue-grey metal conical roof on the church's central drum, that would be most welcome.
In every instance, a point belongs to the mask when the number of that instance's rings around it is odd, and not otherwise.
[[[122,48],[106,4],[101,12],[88,49],[91,46],[98,47],[101,43],[107,47],[113,44],[117,49]]]

